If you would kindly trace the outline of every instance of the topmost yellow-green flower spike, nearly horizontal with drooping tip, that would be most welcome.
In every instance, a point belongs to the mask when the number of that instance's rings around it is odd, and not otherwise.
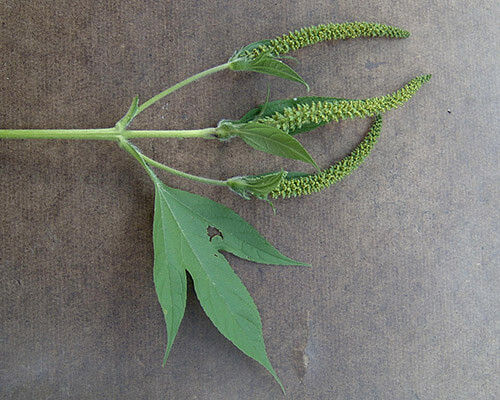
[[[390,25],[371,22],[346,22],[342,24],[321,24],[295,30],[272,40],[257,42],[246,49],[246,55],[256,58],[262,53],[280,56],[326,40],[353,39],[358,37],[407,38],[410,32]]]

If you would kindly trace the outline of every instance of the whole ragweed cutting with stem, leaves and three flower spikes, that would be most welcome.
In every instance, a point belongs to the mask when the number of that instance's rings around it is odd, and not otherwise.
[[[229,208],[165,185],[155,174],[161,169],[206,184],[226,186],[245,199],[296,197],[318,192],[338,182],[370,154],[382,128],[382,114],[408,101],[430,79],[422,75],[392,94],[361,100],[334,97],[299,97],[266,101],[239,120],[223,119],[216,127],[195,130],[131,130],[132,120],[175,90],[224,69],[254,71],[303,83],[282,56],[325,40],[357,37],[405,38],[405,30],[381,24],[352,22],[302,28],[272,40],[249,44],[228,62],[200,72],[162,91],[144,103],[134,98],[115,126],[104,129],[2,129],[3,139],[93,139],[115,141],[145,169],[155,188],[153,278],[167,327],[166,361],[186,306],[186,272],[192,276],[198,299],[217,329],[241,351],[262,364],[280,384],[266,354],[257,308],[221,251],[263,264],[300,265],[271,246],[250,224]],[[295,135],[331,121],[374,117],[363,141],[346,157],[320,169]],[[256,150],[313,165],[314,173],[285,170],[225,180],[176,170],[142,153],[134,138],[240,138]]]

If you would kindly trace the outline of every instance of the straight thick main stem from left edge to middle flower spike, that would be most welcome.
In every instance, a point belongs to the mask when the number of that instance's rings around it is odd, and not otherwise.
[[[125,130],[104,129],[0,129],[0,139],[79,139],[115,140],[138,138],[205,138],[214,139],[216,128],[193,130]]]

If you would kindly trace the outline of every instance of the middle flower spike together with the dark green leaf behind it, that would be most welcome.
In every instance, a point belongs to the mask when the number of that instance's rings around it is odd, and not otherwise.
[[[412,79],[401,89],[381,97],[364,100],[346,100],[333,97],[299,97],[277,100],[259,106],[243,116],[239,122],[256,121],[281,129],[290,135],[307,132],[331,121],[347,118],[365,118],[384,113],[407,102],[428,82],[431,75]]]

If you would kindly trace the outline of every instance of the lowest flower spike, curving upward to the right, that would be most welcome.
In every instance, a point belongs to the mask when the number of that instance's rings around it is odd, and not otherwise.
[[[377,143],[381,130],[382,116],[379,114],[375,117],[375,121],[365,138],[351,154],[336,162],[330,168],[315,174],[289,173],[281,180],[276,189],[270,193],[270,196],[272,198],[297,197],[319,192],[340,181],[362,164],[375,143]]]

